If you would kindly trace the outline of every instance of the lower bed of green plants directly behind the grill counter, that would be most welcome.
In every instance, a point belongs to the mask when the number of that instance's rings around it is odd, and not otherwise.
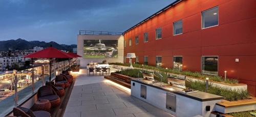
[[[186,86],[194,90],[205,92],[205,89],[206,89],[205,82],[201,82],[201,81],[189,81],[189,82],[190,82],[190,85],[186,85]],[[249,93],[246,90],[231,90],[224,87],[212,86],[211,83],[209,83],[207,93],[223,96],[224,99],[228,101],[243,100],[243,99],[249,98]]]

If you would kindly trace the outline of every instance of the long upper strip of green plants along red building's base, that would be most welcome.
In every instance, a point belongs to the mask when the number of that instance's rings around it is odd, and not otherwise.
[[[111,63],[113,65],[120,65],[120,66],[130,66],[130,64],[122,64],[122,63]],[[165,68],[157,68],[155,66],[148,66],[148,65],[140,65],[140,64],[133,64],[133,67],[135,68],[144,68],[144,69],[150,69],[150,70],[157,70],[161,72],[168,72],[168,73],[174,73],[174,74],[180,74],[180,75],[185,75],[185,76],[191,76],[191,77],[196,77],[200,79],[205,79],[206,77],[209,78],[209,80],[212,81],[218,81],[218,82],[225,82],[225,83],[238,83],[238,79],[231,79],[231,78],[222,78],[221,76],[216,76],[216,75],[206,75],[206,74],[201,74],[200,72],[192,72],[192,71],[179,71],[175,69],[165,69]]]

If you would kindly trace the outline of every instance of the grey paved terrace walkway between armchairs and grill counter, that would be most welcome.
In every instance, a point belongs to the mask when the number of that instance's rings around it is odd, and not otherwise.
[[[130,95],[103,76],[77,77],[65,117],[80,116],[172,116]]]

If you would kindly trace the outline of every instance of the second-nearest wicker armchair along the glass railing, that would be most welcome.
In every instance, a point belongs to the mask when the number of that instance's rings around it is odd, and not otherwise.
[[[41,86],[39,88],[37,92],[37,99],[49,100],[51,103],[51,107],[56,107],[60,105],[60,98],[50,85]]]

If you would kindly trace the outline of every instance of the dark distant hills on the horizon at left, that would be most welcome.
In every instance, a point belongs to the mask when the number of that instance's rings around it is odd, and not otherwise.
[[[8,50],[9,48],[16,49],[16,50],[23,50],[23,49],[33,49],[33,47],[55,47],[61,50],[72,51],[73,48],[77,46],[75,44],[72,45],[65,45],[65,44],[58,44],[54,41],[51,42],[44,42],[44,41],[26,41],[23,39],[17,40],[7,40],[7,41],[0,41],[0,51]]]

